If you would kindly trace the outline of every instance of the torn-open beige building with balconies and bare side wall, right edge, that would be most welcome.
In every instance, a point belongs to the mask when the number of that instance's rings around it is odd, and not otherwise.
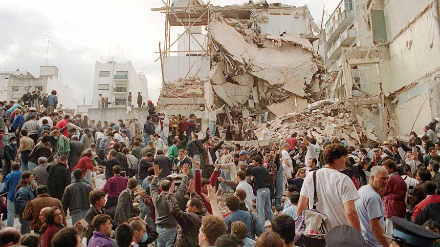
[[[362,97],[357,114],[381,140],[440,114],[439,2],[342,0],[325,24],[330,98]]]

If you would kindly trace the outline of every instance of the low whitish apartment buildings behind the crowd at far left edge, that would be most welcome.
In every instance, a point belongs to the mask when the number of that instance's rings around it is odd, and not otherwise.
[[[50,94],[57,91],[58,102],[63,108],[76,109],[80,103],[73,98],[73,89],[58,80],[58,68],[40,66],[40,77],[34,77],[27,71],[0,71],[0,100],[17,102],[29,91]]]

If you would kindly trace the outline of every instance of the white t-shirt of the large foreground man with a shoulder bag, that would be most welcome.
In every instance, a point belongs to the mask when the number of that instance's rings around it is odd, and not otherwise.
[[[339,225],[350,225],[343,204],[359,199],[359,193],[352,180],[347,175],[330,168],[309,172],[300,192],[300,195],[308,198],[309,208],[313,208],[313,172],[318,172],[316,173],[318,195],[316,209],[327,215],[327,230]]]

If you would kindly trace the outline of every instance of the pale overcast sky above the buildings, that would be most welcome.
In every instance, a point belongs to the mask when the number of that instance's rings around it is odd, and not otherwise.
[[[340,0],[267,0],[289,5],[308,5],[318,26],[325,4],[324,22]],[[206,0],[205,0],[206,2]],[[211,0],[213,5],[241,4],[243,0]],[[29,71],[40,75],[45,65],[60,70],[59,77],[74,91],[74,97],[91,103],[95,61],[132,61],[148,81],[149,96],[155,102],[160,88],[158,42],[164,39],[165,18],[151,8],[161,0],[1,0],[0,71]],[[179,30],[172,29],[172,42]],[[118,52],[119,47],[119,52]],[[2,99],[4,100],[4,99]]]

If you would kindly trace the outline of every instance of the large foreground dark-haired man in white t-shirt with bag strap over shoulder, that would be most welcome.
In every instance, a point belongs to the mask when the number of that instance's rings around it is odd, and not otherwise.
[[[315,185],[318,195],[316,209],[327,215],[327,228],[350,225],[359,232],[361,231],[359,217],[354,206],[354,201],[359,199],[359,194],[352,180],[340,172],[345,169],[347,154],[348,151],[344,145],[330,144],[326,146],[323,152],[325,166],[319,170],[311,171],[304,179],[297,216],[307,206],[313,208],[313,173],[316,173]]]

